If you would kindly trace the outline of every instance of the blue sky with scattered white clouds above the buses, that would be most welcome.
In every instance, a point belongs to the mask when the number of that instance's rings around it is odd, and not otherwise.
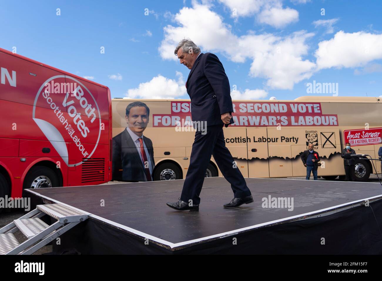
[[[313,80],[338,83],[339,96],[382,95],[382,1],[1,0],[0,7],[1,48],[104,84],[112,97],[189,98],[189,70],[173,54],[183,37],[220,58],[233,98],[313,96],[306,92]]]

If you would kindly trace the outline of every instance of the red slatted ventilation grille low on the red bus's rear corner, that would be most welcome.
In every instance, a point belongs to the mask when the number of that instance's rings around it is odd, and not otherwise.
[[[97,182],[105,179],[105,158],[83,158],[81,182]]]

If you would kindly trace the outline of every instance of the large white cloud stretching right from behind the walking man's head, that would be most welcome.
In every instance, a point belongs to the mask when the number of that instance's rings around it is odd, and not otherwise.
[[[164,39],[158,49],[163,59],[177,60],[175,46],[189,37],[202,47],[202,52],[220,52],[233,62],[252,60],[249,75],[265,78],[270,88],[277,89],[292,89],[294,83],[310,78],[315,67],[313,62],[302,58],[308,54],[305,41],[314,35],[312,33],[299,31],[287,37],[236,36],[219,15],[197,4],[193,8],[182,8],[175,15],[175,22],[177,27],[164,28]]]

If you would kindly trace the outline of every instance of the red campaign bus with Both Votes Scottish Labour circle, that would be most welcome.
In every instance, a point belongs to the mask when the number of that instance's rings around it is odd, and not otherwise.
[[[4,49],[0,67],[0,197],[110,181],[110,90]]]

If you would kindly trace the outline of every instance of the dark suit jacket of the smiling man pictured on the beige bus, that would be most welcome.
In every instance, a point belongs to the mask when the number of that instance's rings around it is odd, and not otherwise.
[[[154,149],[152,141],[143,136],[143,141],[146,144],[149,155],[154,161]],[[141,157],[137,148],[131,139],[129,133],[125,130],[113,138],[113,180],[123,182],[146,182],[146,173],[142,165]],[[122,170],[122,171],[121,171]],[[151,175],[151,179],[153,175]]]

